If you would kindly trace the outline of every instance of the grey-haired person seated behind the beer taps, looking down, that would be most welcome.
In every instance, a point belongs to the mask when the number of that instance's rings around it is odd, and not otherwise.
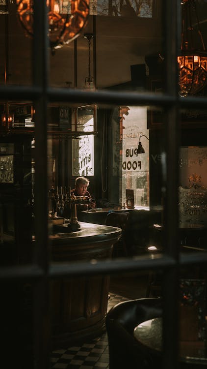
[[[85,177],[77,177],[75,181],[75,188],[71,190],[71,194],[75,196],[88,196],[90,198],[89,204],[78,204],[78,210],[84,209],[94,209],[96,207],[96,202],[92,201],[90,193],[87,191],[90,181]]]

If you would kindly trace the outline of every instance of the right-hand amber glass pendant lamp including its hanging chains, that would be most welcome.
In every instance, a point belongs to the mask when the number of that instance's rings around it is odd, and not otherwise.
[[[200,92],[207,82],[207,52],[200,29],[195,0],[183,0],[181,55],[178,56],[180,95]],[[193,25],[192,20],[196,23]],[[200,48],[196,49],[194,38]]]

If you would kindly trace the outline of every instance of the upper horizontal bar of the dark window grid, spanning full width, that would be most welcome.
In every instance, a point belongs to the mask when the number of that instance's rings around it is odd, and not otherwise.
[[[154,106],[172,106],[179,104],[181,107],[205,107],[207,98],[199,96],[188,96],[183,98],[180,96],[171,96],[165,94],[156,94],[149,92],[116,92],[116,91],[90,91],[75,89],[52,89],[48,88],[43,91],[39,86],[0,86],[0,100],[35,100],[46,93],[48,100],[51,102],[67,102],[67,103],[99,103],[107,105],[154,105]],[[18,96],[18,99],[17,99]]]

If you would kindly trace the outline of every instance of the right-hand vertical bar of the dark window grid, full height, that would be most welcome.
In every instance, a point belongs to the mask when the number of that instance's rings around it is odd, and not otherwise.
[[[179,1],[164,2],[166,92],[175,104],[165,111],[166,201],[165,236],[167,252],[178,261],[178,158],[179,106],[177,78],[177,11]],[[173,216],[172,216],[173,215]],[[178,265],[164,274],[163,368],[178,366]]]

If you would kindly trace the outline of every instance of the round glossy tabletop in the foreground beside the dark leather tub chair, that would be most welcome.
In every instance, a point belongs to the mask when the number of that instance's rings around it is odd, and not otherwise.
[[[162,318],[147,320],[134,329],[134,337],[151,352],[162,352]],[[180,341],[180,361],[196,365],[207,365],[207,349],[204,341]],[[194,368],[194,367],[193,367]]]

